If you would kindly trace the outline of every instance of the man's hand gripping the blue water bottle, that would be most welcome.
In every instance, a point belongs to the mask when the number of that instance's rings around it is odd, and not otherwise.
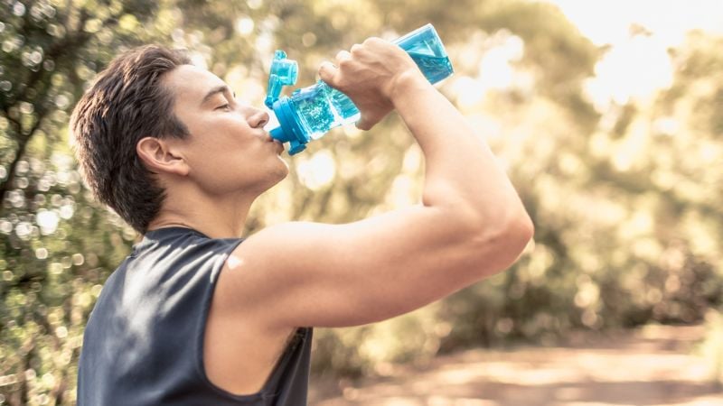
[[[362,130],[369,130],[394,109],[394,97],[405,86],[431,86],[407,52],[380,38],[340,51],[336,65],[324,62],[319,76],[352,99],[362,113],[356,124]]]

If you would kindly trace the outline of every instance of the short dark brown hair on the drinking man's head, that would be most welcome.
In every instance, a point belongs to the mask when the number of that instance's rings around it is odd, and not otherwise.
[[[120,55],[99,73],[70,117],[80,170],[96,198],[141,234],[161,208],[164,189],[136,153],[146,136],[184,138],[174,94],[163,75],[189,64],[181,51],[147,45]]]

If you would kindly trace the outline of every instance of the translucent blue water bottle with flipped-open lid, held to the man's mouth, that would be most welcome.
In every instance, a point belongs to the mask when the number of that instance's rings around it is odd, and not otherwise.
[[[427,24],[393,41],[417,63],[424,76],[434,84],[453,73],[442,40],[432,24]],[[276,51],[268,77],[266,106],[274,111],[279,126],[270,131],[289,153],[302,152],[310,140],[318,140],[333,127],[356,123],[359,109],[342,92],[319,80],[307,88],[296,89],[291,97],[279,97],[284,86],[296,84],[298,65],[287,60],[286,52]]]

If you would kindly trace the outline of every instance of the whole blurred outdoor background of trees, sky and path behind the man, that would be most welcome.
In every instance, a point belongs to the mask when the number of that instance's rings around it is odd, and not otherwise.
[[[511,270],[446,300],[317,329],[311,404],[723,404],[718,0],[0,0],[0,404],[74,404],[83,326],[137,237],[90,196],[69,143],[109,60],[184,48],[261,106],[275,49],[305,87],[337,51],[425,23],[455,67],[439,90],[492,145],[536,235]],[[418,202],[423,157],[396,115],[285,159],[247,233]],[[432,374],[450,364],[461,372]],[[677,375],[646,374],[662,367]],[[668,392],[640,397],[656,383]],[[535,385],[549,391],[511,397]]]

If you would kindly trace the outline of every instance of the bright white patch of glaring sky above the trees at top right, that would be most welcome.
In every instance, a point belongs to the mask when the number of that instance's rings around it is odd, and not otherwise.
[[[669,88],[668,50],[680,46],[691,30],[723,33],[719,0],[540,1],[557,5],[596,46],[610,47],[596,65],[596,78],[586,83],[598,111]]]

